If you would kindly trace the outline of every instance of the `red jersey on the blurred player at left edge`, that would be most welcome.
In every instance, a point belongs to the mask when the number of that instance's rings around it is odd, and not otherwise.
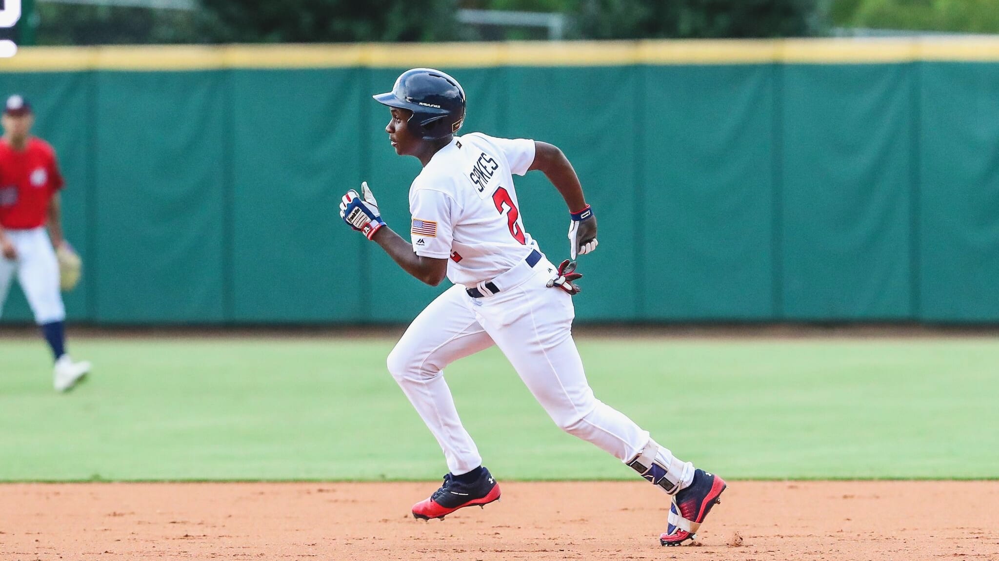
[[[56,151],[31,137],[18,152],[0,140],[0,226],[31,230],[45,225],[52,197],[63,187]]]

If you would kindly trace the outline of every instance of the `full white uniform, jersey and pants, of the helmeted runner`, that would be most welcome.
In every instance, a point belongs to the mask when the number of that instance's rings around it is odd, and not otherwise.
[[[572,340],[572,296],[547,284],[554,265],[541,259],[522,268],[529,277],[489,295],[466,291],[515,268],[537,249],[523,229],[512,179],[533,161],[533,141],[472,133],[441,149],[413,182],[413,249],[419,256],[450,259],[448,278],[456,285],[413,321],[389,354],[389,370],[454,474],[475,469],[483,458],[462,426],[444,368],[495,344],[559,427],[624,462],[654,454],[663,478],[689,485],[692,464],[593,395]]]

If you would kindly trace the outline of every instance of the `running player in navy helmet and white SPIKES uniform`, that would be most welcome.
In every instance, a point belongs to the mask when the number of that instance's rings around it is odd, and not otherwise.
[[[482,133],[456,136],[465,91],[451,76],[417,68],[374,96],[389,107],[389,142],[424,169],[410,188],[410,240],[382,220],[367,183],[340,205],[344,221],[382,247],[407,273],[454,286],[414,319],[389,354],[389,370],[434,433],[448,462],[444,484],[413,506],[417,518],[444,518],[500,498],[462,426],[444,369],[494,344],[565,432],[606,450],[670,495],[662,545],[694,537],[725,482],[660,446],[631,419],[593,396],[572,340],[574,262],[555,267],[523,227],[512,176],[543,173],[570,211],[569,254],[597,247],[596,219],[560,150]]]

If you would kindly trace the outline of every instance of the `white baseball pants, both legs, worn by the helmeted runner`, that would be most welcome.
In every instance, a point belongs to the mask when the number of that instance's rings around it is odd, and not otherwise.
[[[562,430],[592,442],[621,461],[634,458],[649,434],[593,396],[572,340],[572,297],[545,283],[554,267],[542,259],[525,281],[473,298],[455,285],[427,306],[389,354],[389,371],[434,433],[454,474],[482,465],[462,426],[444,368],[494,344],[534,398]],[[658,459],[670,465],[669,450]],[[693,467],[681,475],[689,484]]]

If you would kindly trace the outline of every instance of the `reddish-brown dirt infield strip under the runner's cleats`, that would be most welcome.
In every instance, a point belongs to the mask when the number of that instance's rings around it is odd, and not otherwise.
[[[999,481],[735,481],[675,548],[643,482],[501,485],[424,522],[432,483],[4,484],[0,559],[999,558]]]

